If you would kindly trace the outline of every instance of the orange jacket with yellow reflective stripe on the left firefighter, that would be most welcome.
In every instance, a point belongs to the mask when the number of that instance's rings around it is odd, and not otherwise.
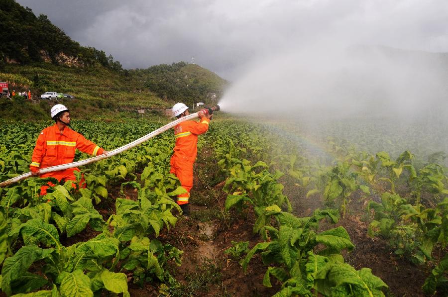
[[[84,138],[83,135],[65,127],[62,133],[58,126],[47,127],[40,132],[37,137],[36,147],[31,157],[31,171],[37,171],[50,166],[72,163],[75,158],[75,150],[79,149],[83,153],[100,155],[104,149],[95,143]],[[73,171],[80,171],[78,168],[70,168],[61,171],[44,173],[40,177],[54,177],[58,181],[76,180]],[[42,193],[41,193],[42,194]]]

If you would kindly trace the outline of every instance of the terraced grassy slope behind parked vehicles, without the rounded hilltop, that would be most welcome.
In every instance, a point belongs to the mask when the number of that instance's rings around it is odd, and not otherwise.
[[[10,91],[31,90],[32,102],[0,99],[0,117],[10,119],[45,119],[54,100],[37,100],[43,92],[74,95],[76,99],[64,100],[78,118],[116,117],[115,113],[133,116],[137,109],[160,113],[172,105],[172,100],[162,100],[143,88],[130,76],[125,76],[101,65],[70,68],[42,63],[35,66],[4,65],[0,80],[8,81]],[[58,100],[59,101],[59,100]],[[124,114],[123,114],[124,116]]]

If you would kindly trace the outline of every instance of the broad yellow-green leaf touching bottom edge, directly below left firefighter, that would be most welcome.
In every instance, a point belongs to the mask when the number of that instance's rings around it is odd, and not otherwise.
[[[90,278],[81,270],[75,270],[73,273],[63,271],[56,283],[61,284],[59,292],[63,297],[93,297]]]

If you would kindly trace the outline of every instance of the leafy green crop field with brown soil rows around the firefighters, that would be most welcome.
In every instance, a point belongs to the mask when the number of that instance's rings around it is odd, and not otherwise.
[[[29,171],[49,124],[0,121],[0,182]],[[73,128],[112,150],[163,124]],[[82,167],[85,189],[51,180],[40,196],[39,178],[0,189],[2,294],[447,296],[443,136],[376,139],[367,126],[213,120],[188,218],[172,131]]]

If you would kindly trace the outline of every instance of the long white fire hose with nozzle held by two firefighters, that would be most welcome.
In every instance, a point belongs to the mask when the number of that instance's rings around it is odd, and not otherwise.
[[[204,108],[201,111],[204,112],[205,114],[213,114],[213,111],[217,111],[217,110],[220,110],[220,106],[219,105],[216,105],[216,106],[213,106],[213,107],[210,107],[210,108]],[[186,115],[186,116],[183,116],[181,118],[178,118],[178,119],[176,119],[176,120],[174,120],[174,121],[172,121],[172,122],[170,122],[170,123],[168,123],[168,124],[158,128],[157,130],[154,130],[151,133],[146,134],[145,136],[140,137],[137,140],[132,141],[131,143],[128,143],[126,145],[123,145],[123,146],[121,146],[119,148],[116,148],[116,149],[110,151],[107,155],[99,155],[99,156],[95,156],[95,157],[92,157],[92,158],[89,158],[89,159],[80,160],[80,161],[77,161],[77,162],[72,162],[72,163],[67,163],[67,164],[62,164],[62,165],[56,165],[56,166],[43,168],[43,169],[40,169],[40,173],[43,174],[43,173],[48,173],[48,172],[53,172],[53,171],[59,171],[59,170],[65,170],[65,169],[69,169],[69,168],[75,168],[75,167],[78,167],[78,166],[87,165],[87,164],[90,164],[90,163],[94,163],[94,162],[101,161],[103,159],[107,159],[107,158],[110,158],[112,156],[118,155],[121,152],[124,152],[124,151],[126,151],[126,150],[128,150],[130,148],[133,148],[133,147],[135,147],[135,146],[145,142],[146,140],[148,140],[148,139],[150,139],[152,137],[155,137],[155,136],[159,135],[160,133],[165,132],[168,129],[171,129],[171,128],[175,127],[177,124],[179,124],[179,123],[181,123],[183,121],[199,117],[198,113],[199,113],[199,111],[195,112],[195,113],[192,113],[192,114],[189,114],[189,115]],[[9,186],[9,185],[11,185],[13,183],[16,183],[16,182],[19,182],[21,180],[27,179],[29,177],[31,177],[31,172],[24,173],[22,175],[16,176],[15,178],[12,178],[12,179],[9,179],[7,181],[4,181],[4,182],[0,183],[0,188],[4,188],[6,186]]]

